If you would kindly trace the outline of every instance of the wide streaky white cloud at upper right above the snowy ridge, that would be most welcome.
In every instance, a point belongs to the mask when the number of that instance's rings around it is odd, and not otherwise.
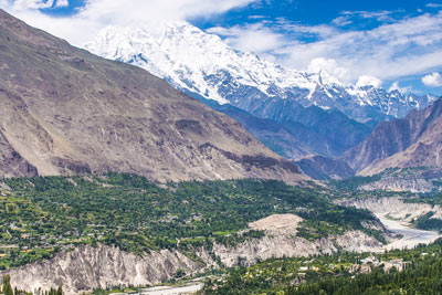
[[[229,29],[214,28],[211,32],[236,49],[271,56],[292,69],[308,70],[320,59],[333,60],[344,82],[356,82],[360,76],[394,81],[442,67],[442,12],[400,21],[394,21],[397,15],[389,11],[344,12],[343,17],[329,25],[309,27],[280,19]],[[365,31],[339,29],[355,18],[383,22]]]

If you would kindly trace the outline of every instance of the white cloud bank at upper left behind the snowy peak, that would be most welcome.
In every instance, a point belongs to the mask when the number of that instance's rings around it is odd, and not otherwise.
[[[259,0],[88,0],[78,13],[66,18],[52,18],[39,9],[52,8],[53,0],[0,0],[0,8],[29,24],[64,38],[75,45],[91,41],[109,24],[129,25],[143,23],[155,25],[159,21],[210,18],[233,8]],[[55,6],[63,7],[66,0]]]

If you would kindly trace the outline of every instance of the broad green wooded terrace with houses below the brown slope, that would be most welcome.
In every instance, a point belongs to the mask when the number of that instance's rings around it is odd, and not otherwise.
[[[305,221],[309,240],[358,229],[375,218],[335,206],[320,188],[274,180],[189,181],[159,187],[128,173],[3,179],[0,268],[50,259],[81,244],[104,243],[143,255],[213,242],[234,245],[262,232],[239,231],[275,213]]]

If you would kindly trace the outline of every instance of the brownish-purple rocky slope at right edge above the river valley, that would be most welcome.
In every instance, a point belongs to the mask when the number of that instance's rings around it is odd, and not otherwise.
[[[386,168],[436,166],[442,143],[442,99],[406,118],[380,123],[344,159],[360,175],[373,175]]]

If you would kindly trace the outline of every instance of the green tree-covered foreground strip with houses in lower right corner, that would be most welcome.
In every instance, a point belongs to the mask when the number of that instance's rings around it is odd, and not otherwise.
[[[339,253],[305,259],[280,259],[236,266],[221,278],[208,280],[203,294],[442,294],[442,239],[413,250],[376,254]],[[365,261],[365,262],[364,262]],[[403,270],[387,270],[388,262]],[[358,273],[367,263],[370,273]]]

